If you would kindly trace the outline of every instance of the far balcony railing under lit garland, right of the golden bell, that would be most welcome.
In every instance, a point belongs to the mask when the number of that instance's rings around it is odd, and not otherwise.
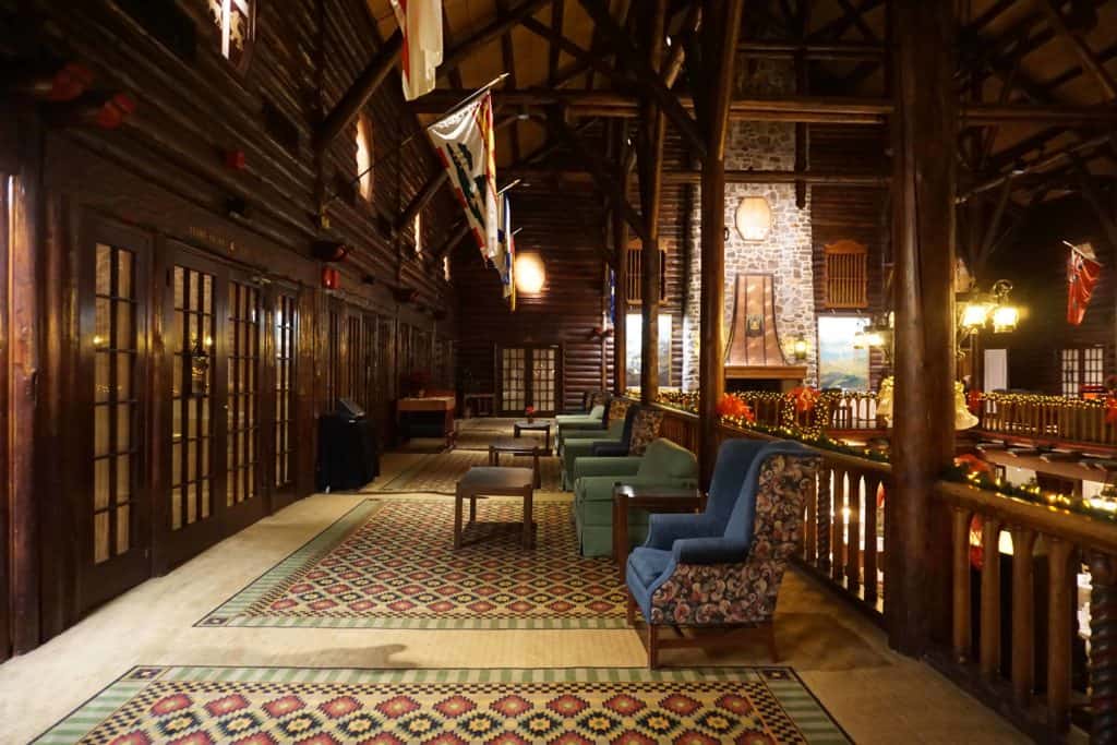
[[[1083,401],[1059,395],[986,393],[981,398],[978,429],[1034,441],[1117,446],[1117,426],[1107,421],[1104,400]]]

